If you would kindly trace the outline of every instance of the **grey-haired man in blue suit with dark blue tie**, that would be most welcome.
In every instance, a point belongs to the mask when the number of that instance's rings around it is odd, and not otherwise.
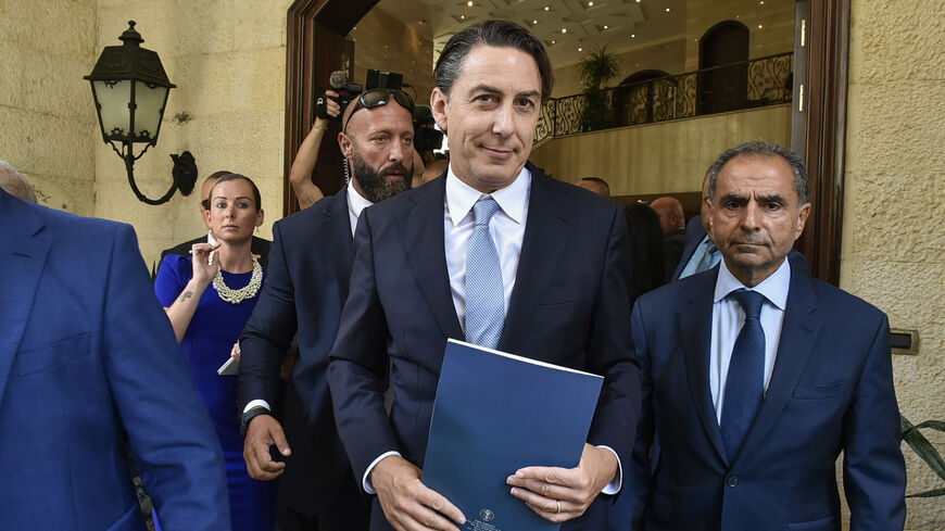
[[[764,142],[709,169],[722,263],[633,308],[643,417],[618,529],[839,531],[841,452],[850,530],[903,529],[889,321],[789,265],[807,190],[803,161]]]

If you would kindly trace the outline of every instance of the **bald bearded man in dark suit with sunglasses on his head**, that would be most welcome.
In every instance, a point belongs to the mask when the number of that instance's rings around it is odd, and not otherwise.
[[[338,439],[326,372],[348,298],[357,219],[368,205],[406,190],[413,175],[412,101],[403,92],[379,100],[381,92],[368,90],[344,114],[338,144],[352,169],[348,186],[273,227],[268,276],[240,340],[243,455],[252,477],[282,476],[284,531],[368,524],[370,506]],[[337,114],[333,101],[329,112]],[[281,393],[280,367],[295,332],[299,357]],[[281,422],[270,415],[278,402]],[[270,446],[282,460],[273,460]]]

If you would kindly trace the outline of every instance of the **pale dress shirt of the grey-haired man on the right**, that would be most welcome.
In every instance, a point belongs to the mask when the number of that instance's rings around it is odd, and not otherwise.
[[[778,353],[778,344],[781,341],[781,325],[784,323],[784,308],[788,304],[788,289],[791,286],[791,265],[788,260],[781,264],[771,276],[763,280],[754,288],[746,288],[736,279],[724,261],[719,266],[719,276],[716,280],[715,295],[713,296],[713,337],[709,354],[709,389],[713,395],[713,405],[716,408],[716,418],[721,421],[722,407],[726,395],[726,381],[729,376],[729,363],[732,359],[732,349],[735,339],[745,323],[745,312],[734,299],[728,299],[728,294],[741,288],[751,289],[765,295],[761,304],[761,329],[765,331],[765,392],[768,392],[768,383],[771,381],[771,372],[774,369],[774,356]]]

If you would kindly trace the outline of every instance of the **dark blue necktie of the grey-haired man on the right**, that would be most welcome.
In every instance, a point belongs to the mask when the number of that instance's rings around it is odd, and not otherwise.
[[[729,293],[729,296],[738,301],[745,312],[745,324],[739,331],[729,362],[719,422],[726,452],[729,459],[734,459],[765,397],[765,330],[760,320],[765,295],[739,289]]]

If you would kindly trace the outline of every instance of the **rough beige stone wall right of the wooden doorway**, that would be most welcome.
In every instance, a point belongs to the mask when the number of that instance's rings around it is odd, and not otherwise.
[[[841,286],[897,328],[903,415],[945,419],[945,26],[938,0],[853,0]],[[929,439],[945,448],[942,432]],[[907,492],[943,486],[904,445]],[[908,501],[908,530],[945,529],[942,497]]]

